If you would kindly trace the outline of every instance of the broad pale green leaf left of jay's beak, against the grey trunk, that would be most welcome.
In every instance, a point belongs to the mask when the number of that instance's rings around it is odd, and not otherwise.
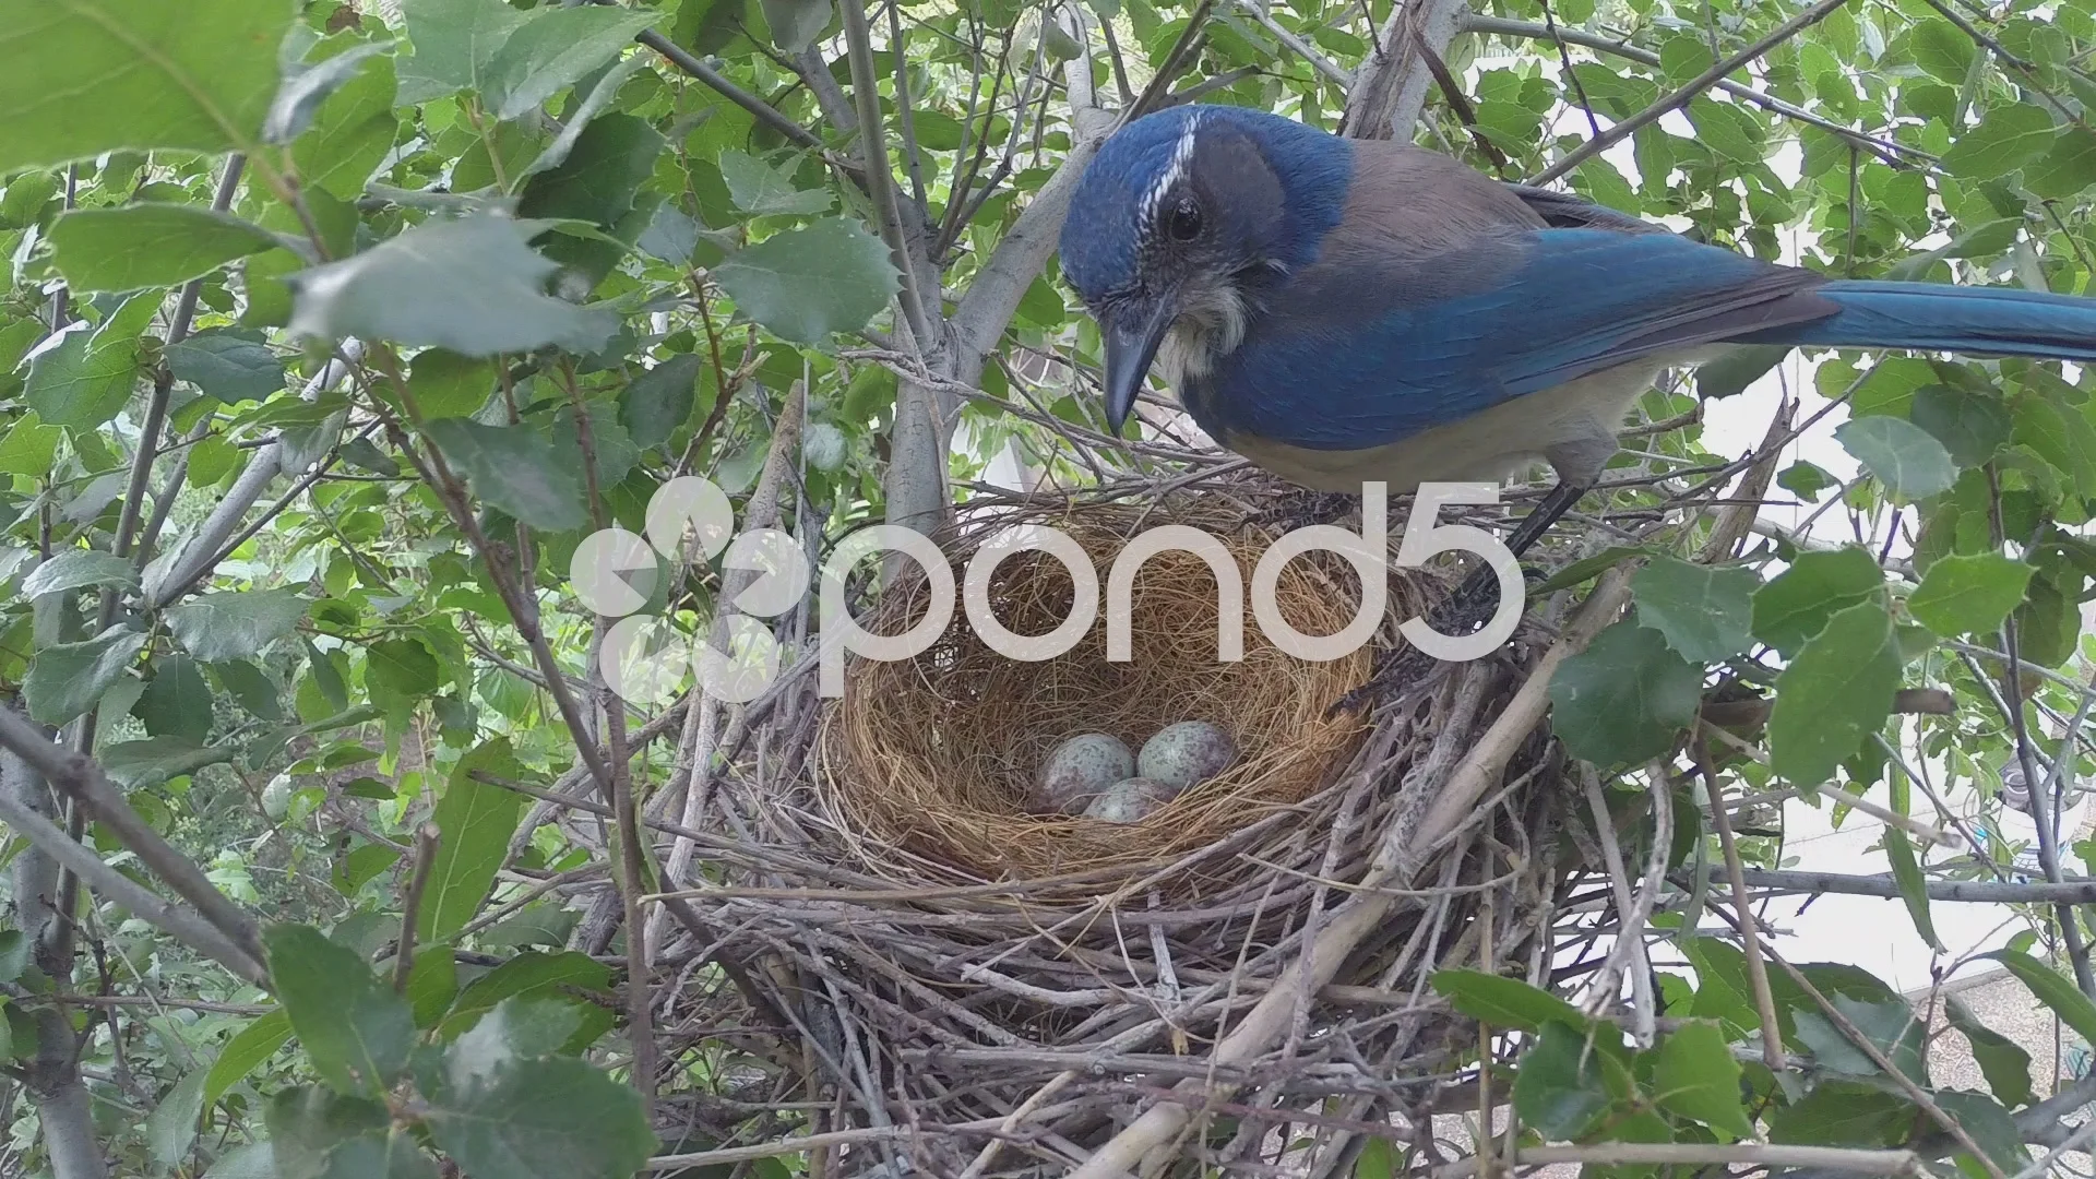
[[[889,248],[857,220],[776,233],[713,269],[744,315],[796,344],[857,331],[899,285]]]

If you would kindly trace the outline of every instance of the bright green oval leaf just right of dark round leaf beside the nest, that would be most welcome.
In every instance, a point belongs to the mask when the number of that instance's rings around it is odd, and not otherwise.
[[[1775,678],[1769,768],[1803,787],[1832,778],[1842,757],[1884,728],[1901,665],[1882,602],[1859,602],[1828,619]]]

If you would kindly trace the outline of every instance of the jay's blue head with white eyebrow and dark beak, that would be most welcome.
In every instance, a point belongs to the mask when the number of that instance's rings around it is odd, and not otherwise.
[[[1172,107],[1100,145],[1061,254],[1107,344],[1115,432],[1161,346],[1167,367],[1203,371],[1243,340],[1262,292],[1316,258],[1352,162],[1348,141],[1245,107]]]

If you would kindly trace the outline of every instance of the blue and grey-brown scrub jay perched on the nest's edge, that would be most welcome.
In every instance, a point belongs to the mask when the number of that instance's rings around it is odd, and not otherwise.
[[[1061,254],[1115,430],[1157,363],[1211,438],[1318,491],[1545,459],[1557,487],[1518,556],[1593,487],[1662,367],[1731,344],[2096,361],[2096,300],[1828,279],[1241,107],[1117,130]]]

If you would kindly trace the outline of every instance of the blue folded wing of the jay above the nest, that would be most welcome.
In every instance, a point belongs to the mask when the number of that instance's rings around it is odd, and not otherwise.
[[[1388,243],[1388,239],[1383,239]],[[1350,451],[1587,373],[1838,310],[1811,271],[1673,233],[1543,229],[1390,256],[1335,231],[1195,388],[1224,432]]]

